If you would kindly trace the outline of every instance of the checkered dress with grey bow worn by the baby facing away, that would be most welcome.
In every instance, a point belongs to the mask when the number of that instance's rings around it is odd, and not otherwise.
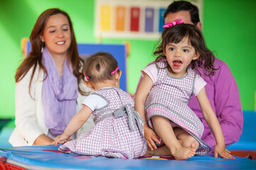
[[[59,147],[62,152],[90,156],[135,159],[146,152],[144,121],[134,111],[134,101],[122,89],[107,88],[93,92],[108,101],[92,112],[95,127],[78,139]]]

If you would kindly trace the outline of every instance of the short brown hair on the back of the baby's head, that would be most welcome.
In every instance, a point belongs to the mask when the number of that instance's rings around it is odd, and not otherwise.
[[[93,83],[114,79],[111,72],[118,67],[117,60],[108,52],[96,52],[83,64],[83,72]],[[117,70],[119,72],[119,69]]]

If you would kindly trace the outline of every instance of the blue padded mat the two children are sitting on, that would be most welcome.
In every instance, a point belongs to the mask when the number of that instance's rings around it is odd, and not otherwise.
[[[114,159],[64,154],[58,152],[58,147],[54,145],[0,148],[0,157],[30,169],[256,169],[256,161],[242,157],[222,159],[207,154],[185,161],[159,157]]]

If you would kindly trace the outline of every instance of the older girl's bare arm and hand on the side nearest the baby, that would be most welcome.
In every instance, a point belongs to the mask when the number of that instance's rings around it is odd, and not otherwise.
[[[153,81],[147,74],[145,74],[144,78],[142,79],[142,82],[139,84],[139,87],[137,89],[137,94],[134,98],[134,103],[135,103],[134,108],[135,108],[135,111],[137,111],[139,115],[141,115],[142,119],[145,122],[144,136],[146,138],[147,145],[151,150],[153,150],[153,148],[156,149],[156,145],[154,141],[160,144],[158,140],[159,137],[157,137],[154,130],[149,128],[149,126],[146,124],[146,117],[145,117],[144,103],[146,101],[146,96],[148,96],[152,86],[153,86]]]

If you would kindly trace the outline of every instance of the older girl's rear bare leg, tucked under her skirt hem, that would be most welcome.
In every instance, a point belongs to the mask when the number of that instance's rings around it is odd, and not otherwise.
[[[182,128],[174,128],[174,134],[177,137],[177,140],[180,142],[183,147],[190,147],[192,144],[195,144],[195,149],[198,149],[199,142],[195,137],[191,136],[186,130]]]

